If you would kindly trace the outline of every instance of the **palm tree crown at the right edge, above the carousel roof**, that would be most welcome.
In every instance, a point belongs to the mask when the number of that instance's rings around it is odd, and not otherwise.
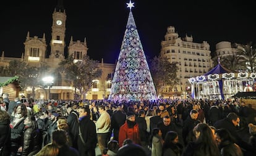
[[[246,65],[248,72],[255,72],[256,66],[256,49],[252,46],[252,42],[242,46],[237,51],[237,55],[242,57],[242,64]]]

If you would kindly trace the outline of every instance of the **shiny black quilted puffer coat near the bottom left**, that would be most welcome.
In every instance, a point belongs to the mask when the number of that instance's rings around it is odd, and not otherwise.
[[[22,156],[36,154],[41,149],[42,136],[39,129],[25,128],[23,134]]]

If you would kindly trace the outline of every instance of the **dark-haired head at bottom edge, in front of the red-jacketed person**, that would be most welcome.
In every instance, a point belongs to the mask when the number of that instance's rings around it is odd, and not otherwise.
[[[125,146],[122,146],[121,148],[119,148],[117,151],[117,156],[130,156],[130,155],[147,156],[147,152],[145,152],[142,146],[139,146],[138,144],[134,144],[134,143],[126,144]]]

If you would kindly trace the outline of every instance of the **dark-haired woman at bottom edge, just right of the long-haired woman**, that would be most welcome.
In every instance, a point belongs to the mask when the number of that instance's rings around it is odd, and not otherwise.
[[[242,150],[235,139],[231,136],[227,129],[221,128],[216,130],[216,141],[220,148],[221,156],[243,156]]]

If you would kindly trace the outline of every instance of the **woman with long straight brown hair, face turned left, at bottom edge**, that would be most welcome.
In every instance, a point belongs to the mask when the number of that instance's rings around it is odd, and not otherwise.
[[[198,123],[194,128],[195,141],[189,142],[183,152],[183,156],[220,156],[218,144],[206,123]]]

